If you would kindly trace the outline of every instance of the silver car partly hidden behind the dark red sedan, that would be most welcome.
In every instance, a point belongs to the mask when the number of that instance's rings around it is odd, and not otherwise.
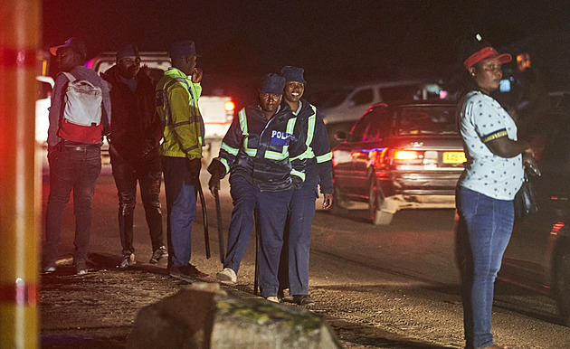
[[[401,99],[439,99],[441,91],[439,85],[425,80],[398,80],[320,90],[308,99],[323,116],[330,145],[336,146],[334,135],[337,131],[348,132],[368,106]]]

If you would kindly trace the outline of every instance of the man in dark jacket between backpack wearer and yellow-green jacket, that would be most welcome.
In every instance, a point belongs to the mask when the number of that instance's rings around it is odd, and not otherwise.
[[[161,184],[159,142],[162,123],[155,104],[156,83],[146,67],[140,68],[137,47],[127,45],[117,52],[117,64],[105,71],[111,85],[109,155],[119,194],[119,236],[123,259],[119,268],[136,263],[133,246],[133,214],[137,182],[147,217],[153,254],[150,263],[168,256],[164,244],[158,194]]]

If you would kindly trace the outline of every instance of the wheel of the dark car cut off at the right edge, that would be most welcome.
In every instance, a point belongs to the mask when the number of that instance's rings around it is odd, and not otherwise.
[[[565,246],[556,253],[555,295],[558,313],[564,325],[570,325],[570,247]]]

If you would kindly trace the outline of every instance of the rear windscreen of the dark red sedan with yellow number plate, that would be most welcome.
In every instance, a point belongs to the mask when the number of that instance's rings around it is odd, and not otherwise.
[[[455,106],[403,107],[397,113],[400,136],[456,135]]]

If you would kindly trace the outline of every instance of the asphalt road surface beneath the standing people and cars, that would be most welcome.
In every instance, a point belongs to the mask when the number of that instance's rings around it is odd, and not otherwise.
[[[210,280],[214,281],[215,272],[221,269],[221,264],[217,252],[214,198],[205,189],[207,179],[208,176],[203,171],[212,258],[205,259],[204,256],[204,224],[198,214],[193,232],[192,262],[209,273]],[[44,171],[43,208],[47,184],[48,177]],[[223,181],[221,198],[223,228],[227,230],[232,209],[227,181]],[[164,212],[164,193],[162,203]],[[109,260],[120,258],[117,207],[117,193],[110,167],[105,165],[93,203],[90,250],[94,256],[107,256],[107,259],[100,263],[104,268],[91,269],[83,282],[92,280],[102,283],[98,289],[104,292],[109,289],[111,280],[115,292],[113,294],[120,299],[119,304],[127,302],[134,305],[126,307],[122,314],[115,314],[115,317],[109,315],[109,310],[105,313],[105,316],[115,318],[115,325],[122,324],[122,330],[114,333],[113,337],[114,343],[120,347],[121,338],[128,334],[129,324],[134,320],[139,307],[173,294],[183,285],[168,278],[164,266],[150,268],[147,265],[151,248],[139,198],[135,212],[138,268],[130,273],[119,272],[114,265],[109,265]],[[332,214],[319,209],[313,222],[310,262],[310,293],[317,304],[310,309],[325,316],[347,348],[461,348],[461,297],[459,274],[454,262],[452,221],[451,210],[403,211],[396,213],[391,225],[378,227],[367,222],[364,211]],[[71,256],[72,229],[70,203],[63,220],[60,249],[62,259]],[[253,256],[251,243],[238,275],[237,288],[245,292],[252,292]],[[152,275],[145,277],[148,272]],[[66,284],[66,289],[60,292],[62,283],[71,282],[76,292],[90,292],[89,289],[82,288],[81,280],[76,279],[78,277],[63,273],[61,276],[43,277],[43,308],[50,312],[50,316],[43,315],[44,343],[57,342],[58,335],[62,333],[71,335],[75,331],[77,334],[85,334],[79,328],[74,329],[74,323],[52,320],[52,316],[60,314],[58,312],[62,312],[60,315],[63,317],[67,314],[64,313],[64,307],[58,306],[58,302],[65,298],[63,292],[69,295],[71,287]],[[116,290],[119,287],[116,285],[117,280],[125,281],[128,292],[121,294],[120,289]],[[140,292],[135,295],[133,288],[143,282],[145,292],[138,290]],[[153,283],[156,285],[152,286]],[[498,343],[516,348],[570,347],[570,329],[558,325],[554,301],[502,282],[497,283],[496,289],[493,331]],[[137,297],[137,302],[129,300],[129,297]],[[104,303],[103,300],[100,302]],[[84,303],[78,301],[69,307],[89,306]],[[74,312],[77,311],[81,312],[81,309]],[[90,317],[97,320],[99,313],[95,306],[90,305],[90,311]],[[117,316],[122,320],[118,322]],[[105,325],[101,324],[97,330],[92,329],[87,333],[93,336],[104,332],[102,328]],[[105,335],[100,337],[105,338]],[[97,342],[96,338],[93,341],[93,346],[90,347],[98,347],[97,343],[103,343]],[[59,346],[54,344],[46,347]]]

